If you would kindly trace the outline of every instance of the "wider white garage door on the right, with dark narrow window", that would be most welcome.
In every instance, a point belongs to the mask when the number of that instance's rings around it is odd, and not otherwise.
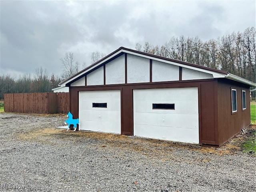
[[[199,143],[198,88],[134,90],[134,136]]]

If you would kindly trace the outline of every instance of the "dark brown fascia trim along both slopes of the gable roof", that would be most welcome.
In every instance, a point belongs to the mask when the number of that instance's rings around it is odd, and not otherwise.
[[[225,74],[225,75],[228,74],[228,72],[226,72],[226,71],[222,71],[222,70],[218,70],[218,69],[214,69],[214,68],[210,68],[210,67],[201,66],[201,65],[198,65],[198,64],[188,63],[188,62],[184,62],[184,61],[180,61],[180,60],[170,59],[170,58],[166,58],[166,57],[162,57],[162,56],[158,56],[158,55],[153,55],[153,54],[150,54],[150,53],[145,53],[145,52],[141,52],[141,51],[137,51],[137,50],[133,50],[133,49],[128,49],[128,48],[125,48],[125,47],[120,47],[117,50],[115,50],[114,52],[112,52],[112,53],[108,54],[107,56],[105,56],[104,58],[98,60],[94,64],[92,64],[92,65],[86,67],[85,69],[81,70],[77,74],[74,74],[70,78],[60,82],[60,85],[64,84],[67,81],[69,81],[70,79],[74,78],[75,76],[78,76],[79,74],[83,73],[84,71],[92,68],[93,66],[95,66],[98,63],[102,62],[103,60],[106,60],[107,58],[109,58],[110,56],[112,56],[116,52],[119,52],[120,50],[126,50],[126,51],[129,51],[129,52],[134,52],[134,53],[137,53],[137,54],[142,54],[142,55],[145,55],[145,56],[149,56],[149,57],[153,57],[153,58],[158,58],[158,59],[162,59],[162,60],[166,60],[166,61],[170,61],[170,62],[174,62],[174,63],[179,63],[179,64],[183,64],[183,65],[187,65],[187,66],[192,66],[192,67],[195,67],[195,68],[200,68],[200,69],[204,69],[204,70],[208,70],[208,71],[212,71],[212,72],[218,72],[218,73]]]

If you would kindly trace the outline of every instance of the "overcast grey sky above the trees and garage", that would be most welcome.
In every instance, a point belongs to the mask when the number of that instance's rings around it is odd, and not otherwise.
[[[255,26],[256,1],[0,1],[0,74],[33,74],[42,66],[60,74],[73,52],[91,64],[109,54],[172,36],[217,39]]]

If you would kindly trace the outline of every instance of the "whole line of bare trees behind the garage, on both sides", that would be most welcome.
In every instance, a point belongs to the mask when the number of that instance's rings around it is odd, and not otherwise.
[[[202,41],[198,37],[172,37],[162,46],[154,46],[145,42],[137,43],[138,51],[155,54],[167,58],[190,62],[219,70],[224,70],[256,82],[256,30],[247,28],[244,32],[233,32],[217,40]],[[106,56],[104,53],[92,52],[91,64]],[[18,77],[10,74],[0,75],[0,100],[4,93],[51,92],[52,88],[80,70],[79,62],[74,60],[74,54],[69,52],[60,58],[62,74],[48,74],[42,67],[36,68],[34,74],[24,74]],[[86,67],[83,63],[82,68]]]

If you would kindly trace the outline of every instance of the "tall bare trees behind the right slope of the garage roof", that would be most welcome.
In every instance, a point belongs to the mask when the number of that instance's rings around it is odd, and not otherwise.
[[[138,51],[224,70],[255,82],[256,30],[233,32],[217,40],[202,41],[198,37],[172,37],[162,46],[137,43]]]

